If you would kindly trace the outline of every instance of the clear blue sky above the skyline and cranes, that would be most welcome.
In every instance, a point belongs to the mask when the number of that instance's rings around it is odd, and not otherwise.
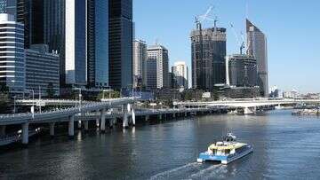
[[[201,2],[201,3],[200,3]],[[196,15],[219,17],[228,28],[228,54],[238,51],[229,22],[240,34],[248,4],[249,19],[268,36],[269,86],[320,92],[320,1],[318,0],[133,0],[136,38],[169,50],[170,65],[184,60],[191,69],[189,34]],[[205,26],[212,26],[212,22]]]

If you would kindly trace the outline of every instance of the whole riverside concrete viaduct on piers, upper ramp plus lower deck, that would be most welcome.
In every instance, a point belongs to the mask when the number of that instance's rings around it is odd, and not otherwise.
[[[1,141],[21,140],[22,144],[28,144],[30,136],[29,124],[48,123],[50,135],[54,136],[54,128],[57,122],[68,121],[68,136],[73,137],[75,134],[75,122],[77,121],[78,128],[84,124],[84,129],[88,130],[89,121],[95,121],[100,131],[106,130],[106,123],[110,127],[116,124],[117,118],[122,119],[123,127],[128,128],[129,123],[136,123],[136,117],[142,117],[148,121],[150,116],[155,116],[159,120],[165,120],[169,116],[188,116],[196,113],[212,113],[220,110],[218,107],[197,107],[197,108],[180,108],[180,109],[144,109],[135,111],[132,104],[139,98],[118,98],[104,100],[103,102],[91,102],[82,106],[74,106],[68,108],[60,108],[42,113],[15,113],[15,114],[0,114],[0,136],[5,135],[6,125],[20,124],[22,127],[20,137],[0,137]],[[118,110],[120,109],[120,110]]]

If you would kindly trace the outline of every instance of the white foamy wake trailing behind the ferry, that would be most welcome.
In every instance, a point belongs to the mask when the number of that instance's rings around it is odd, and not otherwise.
[[[212,179],[212,177],[223,178],[227,168],[224,165],[205,165],[197,162],[188,163],[178,168],[172,168],[164,172],[151,176],[150,180],[155,179]]]

